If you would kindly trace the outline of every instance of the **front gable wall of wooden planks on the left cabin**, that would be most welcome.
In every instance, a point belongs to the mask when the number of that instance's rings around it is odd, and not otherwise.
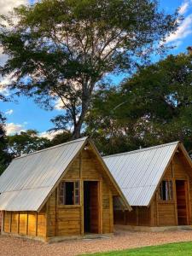
[[[102,209],[99,221],[101,233],[113,232],[113,196],[111,188],[108,186],[108,178],[102,171],[101,164],[96,160],[95,154],[90,150],[83,150],[73,165],[68,169],[63,181],[98,181],[100,196],[102,196]],[[111,185],[110,185],[111,186]],[[80,186],[81,202],[80,206],[60,206],[58,205],[58,188],[50,195],[47,202],[47,236],[79,236],[84,233],[83,227],[83,185]],[[117,192],[115,192],[117,194]],[[100,201],[100,200],[99,200]],[[101,203],[100,203],[101,205]]]

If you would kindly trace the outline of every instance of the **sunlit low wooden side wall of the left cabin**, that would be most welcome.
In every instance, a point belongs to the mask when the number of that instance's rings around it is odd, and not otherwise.
[[[45,207],[41,212],[3,212],[3,231],[21,236],[46,236]]]

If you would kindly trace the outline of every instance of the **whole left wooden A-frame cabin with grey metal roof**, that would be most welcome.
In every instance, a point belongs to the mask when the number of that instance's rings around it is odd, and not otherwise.
[[[131,210],[87,137],[13,160],[0,193],[2,234],[43,241],[113,233],[113,196]]]

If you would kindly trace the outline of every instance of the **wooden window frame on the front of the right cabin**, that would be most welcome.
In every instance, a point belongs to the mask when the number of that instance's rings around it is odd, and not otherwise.
[[[164,200],[162,198],[162,192],[161,192],[161,189],[162,189],[162,183],[163,182],[166,182],[166,186],[168,184],[168,189],[167,191],[165,191],[165,193],[167,194],[166,195],[166,199]],[[174,185],[173,185],[173,180],[172,179],[163,179],[161,182],[160,182],[160,187],[159,187],[159,201],[160,202],[164,202],[164,203],[167,203],[167,202],[173,202],[174,201],[174,193],[173,193],[173,189],[174,189]]]

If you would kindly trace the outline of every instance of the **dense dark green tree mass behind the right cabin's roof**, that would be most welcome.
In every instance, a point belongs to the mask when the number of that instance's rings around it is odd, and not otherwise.
[[[97,92],[87,132],[105,154],[177,140],[190,151],[191,84],[190,51],[142,67],[119,89]]]

